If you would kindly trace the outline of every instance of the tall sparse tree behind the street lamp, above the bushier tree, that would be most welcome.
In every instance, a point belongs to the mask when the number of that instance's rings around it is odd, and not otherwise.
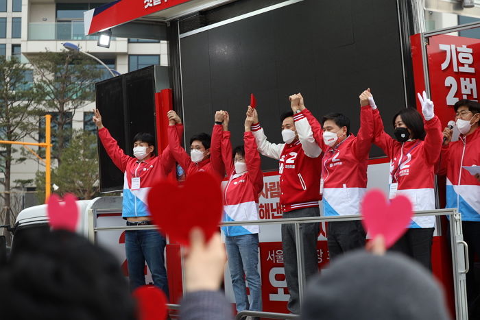
[[[97,62],[77,51],[43,52],[30,62],[36,71],[35,87],[45,99],[41,105],[53,114],[52,158],[62,161],[71,137],[71,122],[78,108],[95,100],[95,82],[101,77]]]

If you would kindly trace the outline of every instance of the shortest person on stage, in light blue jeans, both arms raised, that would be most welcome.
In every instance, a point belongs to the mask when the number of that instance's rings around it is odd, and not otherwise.
[[[228,112],[224,112],[221,156],[228,176],[224,189],[224,221],[257,220],[259,219],[259,193],[263,190],[263,171],[260,154],[256,151],[255,137],[251,131],[254,121],[252,108],[248,110],[245,119],[244,145],[235,147],[233,152],[228,120]],[[236,225],[221,227],[221,230],[225,234],[228,267],[237,311],[261,311],[261,280],[258,270],[259,226]],[[250,303],[246,294],[244,275],[250,289]]]

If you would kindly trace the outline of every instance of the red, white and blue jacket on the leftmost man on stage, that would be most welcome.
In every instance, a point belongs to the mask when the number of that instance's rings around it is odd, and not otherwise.
[[[173,127],[182,135],[182,127]],[[115,166],[123,172],[123,204],[122,217],[146,217],[150,213],[147,210],[147,194],[156,181],[167,177],[175,168],[175,160],[171,156],[170,148],[167,147],[160,156],[152,156],[147,160],[137,160],[127,156],[108,132],[106,127],[98,130],[101,144],[107,151]],[[140,188],[132,190],[132,178],[140,178]]]

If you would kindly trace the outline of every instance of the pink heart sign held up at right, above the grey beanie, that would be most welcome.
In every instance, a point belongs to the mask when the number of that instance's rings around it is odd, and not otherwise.
[[[370,237],[383,235],[385,247],[389,248],[407,231],[413,210],[410,200],[403,195],[387,201],[381,190],[370,190],[363,197],[361,214]]]

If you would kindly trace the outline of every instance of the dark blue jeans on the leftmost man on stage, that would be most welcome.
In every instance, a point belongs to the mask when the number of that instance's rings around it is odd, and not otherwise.
[[[134,290],[145,284],[145,261],[147,261],[154,285],[169,295],[167,270],[165,269],[165,238],[156,230],[125,231],[125,254],[127,255],[130,288]]]

